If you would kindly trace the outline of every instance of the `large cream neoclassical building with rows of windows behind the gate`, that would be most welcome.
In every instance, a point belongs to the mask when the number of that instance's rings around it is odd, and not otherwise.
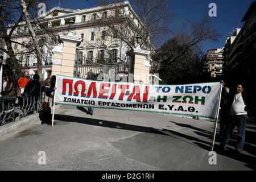
[[[130,20],[127,30],[131,32],[131,37],[136,36],[133,28],[141,29],[143,24],[139,20],[137,14],[135,14],[130,3],[128,1],[122,2],[122,6],[118,8],[118,13]],[[98,6],[89,9],[64,9],[61,7],[55,7],[42,15],[42,22],[35,24],[35,27],[44,26],[49,30],[55,32],[55,37],[58,35],[67,35],[70,31],[77,38],[81,38],[81,43],[76,48],[76,74],[79,73],[80,77],[86,77],[86,73],[92,71],[92,69],[82,70],[84,65],[91,65],[97,67],[94,69],[94,73],[102,71],[100,67],[106,65],[112,65],[120,69],[122,72],[131,71],[131,61],[127,52],[132,49],[125,41],[119,38],[118,32],[110,31],[110,28],[101,26],[102,20],[113,19],[117,16],[117,6],[111,9],[110,6]],[[118,29],[118,23],[115,25]],[[35,29],[36,34],[39,37],[39,43],[42,43],[42,56],[43,56],[43,77],[46,78],[51,75],[53,64],[53,52],[56,46],[61,46],[56,39],[48,36],[47,32],[38,31]],[[26,23],[20,23],[15,30],[15,34],[12,36],[12,40],[19,43],[32,44],[30,33],[27,30]],[[148,41],[147,45],[151,44]],[[152,51],[152,45],[144,46],[143,49]],[[17,59],[20,61],[20,66],[24,70],[30,71],[31,75],[37,72],[37,61],[35,53],[26,53],[27,49],[20,44],[13,44],[13,49],[16,53]],[[154,49],[154,48],[153,48]],[[150,57],[147,57],[150,59]],[[109,66],[110,67],[110,66]],[[74,72],[75,74],[75,72]]]

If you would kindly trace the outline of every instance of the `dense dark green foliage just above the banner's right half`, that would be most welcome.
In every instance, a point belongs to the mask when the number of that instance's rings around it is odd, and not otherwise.
[[[175,38],[167,40],[153,56],[159,66],[155,72],[163,80],[161,84],[185,84],[195,82],[199,77],[200,54],[188,49],[183,55],[168,64],[172,57],[179,54],[187,45],[181,45]]]

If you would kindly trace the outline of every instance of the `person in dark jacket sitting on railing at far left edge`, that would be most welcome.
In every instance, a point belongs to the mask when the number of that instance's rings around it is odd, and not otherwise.
[[[18,85],[14,81],[14,78],[12,75],[7,75],[6,79],[7,79],[7,84],[6,84],[5,91],[1,92],[3,96],[0,97],[0,107],[2,109],[2,104],[5,101],[4,109],[8,110],[7,102],[14,102],[16,100]]]

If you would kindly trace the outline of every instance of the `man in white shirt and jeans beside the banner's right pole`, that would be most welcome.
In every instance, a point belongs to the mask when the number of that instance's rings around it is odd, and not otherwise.
[[[234,127],[238,128],[238,138],[236,150],[242,151],[245,143],[245,123],[247,121],[246,101],[248,101],[247,94],[243,93],[243,86],[237,85],[237,93],[231,98],[231,107],[229,111],[229,121],[225,127],[224,137],[221,142],[221,147],[226,150],[226,144],[229,142],[230,135]]]

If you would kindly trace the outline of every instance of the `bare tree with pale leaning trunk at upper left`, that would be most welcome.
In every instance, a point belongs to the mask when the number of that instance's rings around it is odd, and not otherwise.
[[[0,47],[0,50],[7,53],[10,59],[13,60],[15,71],[22,75],[20,69],[19,60],[16,56],[19,54],[31,54],[38,60],[38,74],[42,77],[42,48],[44,46],[49,47],[49,42],[55,39],[55,32],[51,27],[48,27],[47,20],[43,17],[38,17],[38,5],[39,3],[45,3],[48,7],[54,6],[55,1],[52,0],[3,0],[0,4],[0,39],[5,40],[5,47]],[[26,22],[26,23],[24,23]],[[24,28],[28,28],[28,31],[32,37],[31,42],[18,42],[12,37],[13,35],[24,35]],[[20,31],[22,29],[23,31]],[[42,35],[47,35],[47,38],[43,38],[40,42]],[[12,45],[20,45],[26,49],[21,52],[14,51]],[[15,47],[15,46],[14,46]]]

